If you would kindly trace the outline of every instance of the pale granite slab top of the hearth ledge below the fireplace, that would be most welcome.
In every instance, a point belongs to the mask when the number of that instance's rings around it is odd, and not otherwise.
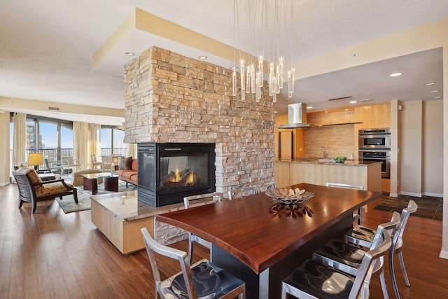
[[[137,200],[137,191],[127,191],[118,193],[107,193],[102,195],[92,195],[91,200],[100,204],[107,209],[114,217],[120,218],[122,221],[132,221],[139,218],[154,216],[157,214],[167,213],[183,209],[181,204],[170,204],[164,207],[151,207],[144,202]]]

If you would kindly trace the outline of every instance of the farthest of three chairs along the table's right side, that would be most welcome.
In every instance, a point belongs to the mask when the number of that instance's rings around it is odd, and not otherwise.
[[[398,259],[400,260],[400,267],[403,277],[405,279],[405,284],[407,287],[410,287],[411,284],[409,282],[409,277],[407,276],[405,260],[403,258],[402,246],[403,246],[403,233],[405,232],[405,227],[407,224],[407,220],[409,216],[417,210],[418,206],[414,202],[414,200],[409,200],[407,207],[402,209],[401,212],[401,221],[398,227],[395,230],[395,233],[392,237],[392,247],[389,252],[389,272],[391,272],[391,281],[393,286],[393,292],[395,293],[395,298],[400,298],[400,292],[398,291],[397,280],[395,277],[395,266],[393,264],[393,259],[395,254],[398,255]],[[350,230],[345,235],[346,242],[351,244],[356,244],[359,246],[370,247],[372,244],[372,229],[367,228],[363,225],[356,225],[353,230]]]

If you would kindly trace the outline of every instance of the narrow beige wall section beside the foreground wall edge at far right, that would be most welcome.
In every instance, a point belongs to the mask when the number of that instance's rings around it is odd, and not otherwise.
[[[443,195],[443,100],[423,102],[423,195]]]

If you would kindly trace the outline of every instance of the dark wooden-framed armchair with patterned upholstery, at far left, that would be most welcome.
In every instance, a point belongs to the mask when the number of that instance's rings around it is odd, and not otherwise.
[[[34,213],[38,201],[54,200],[56,197],[62,199],[64,195],[73,195],[73,199],[78,203],[76,188],[65,183],[64,179],[42,181],[32,168],[20,168],[13,172],[13,176],[19,189],[19,208],[24,202],[31,202],[31,212]]]

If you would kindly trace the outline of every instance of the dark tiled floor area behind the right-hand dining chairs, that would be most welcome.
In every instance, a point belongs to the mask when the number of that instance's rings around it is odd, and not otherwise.
[[[442,197],[414,197],[408,195],[400,195],[399,197],[390,197],[383,195],[381,203],[374,207],[380,211],[398,211],[401,213],[402,209],[407,207],[409,200],[414,200],[417,204],[417,211],[411,216],[428,218],[442,221],[443,198]]]

